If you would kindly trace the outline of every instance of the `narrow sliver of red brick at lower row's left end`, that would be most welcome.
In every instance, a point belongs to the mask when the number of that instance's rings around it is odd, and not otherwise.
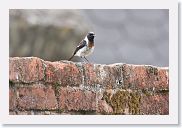
[[[16,101],[16,93],[15,90],[9,88],[9,110],[14,110],[16,108],[17,101]]]

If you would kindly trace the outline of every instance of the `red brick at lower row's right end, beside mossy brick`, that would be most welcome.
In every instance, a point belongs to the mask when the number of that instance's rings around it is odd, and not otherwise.
[[[143,95],[141,98],[140,113],[143,115],[168,115],[169,94]]]

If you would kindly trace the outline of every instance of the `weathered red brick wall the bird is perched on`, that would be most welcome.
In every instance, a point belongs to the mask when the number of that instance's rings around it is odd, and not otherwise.
[[[168,68],[9,59],[9,112],[169,114]]]

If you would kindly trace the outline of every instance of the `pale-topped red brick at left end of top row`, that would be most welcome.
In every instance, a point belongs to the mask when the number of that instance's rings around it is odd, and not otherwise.
[[[44,78],[41,59],[36,57],[14,57],[9,59],[9,80],[32,83]]]

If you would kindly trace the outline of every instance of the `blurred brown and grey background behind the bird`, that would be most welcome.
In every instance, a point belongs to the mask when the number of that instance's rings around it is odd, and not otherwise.
[[[168,10],[10,10],[10,56],[68,59],[88,31],[93,63],[169,65]],[[74,58],[74,61],[80,61]]]

